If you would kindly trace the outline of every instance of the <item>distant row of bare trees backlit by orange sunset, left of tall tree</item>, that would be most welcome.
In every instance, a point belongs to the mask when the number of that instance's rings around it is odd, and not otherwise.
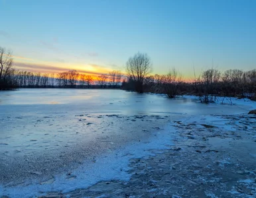
[[[94,79],[91,75],[78,73],[76,70],[61,73],[38,73],[12,69],[7,79],[10,88],[119,88],[121,86],[121,72],[111,71],[107,75],[99,75]]]

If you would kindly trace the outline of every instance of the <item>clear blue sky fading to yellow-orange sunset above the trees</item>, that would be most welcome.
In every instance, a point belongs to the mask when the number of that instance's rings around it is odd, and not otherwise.
[[[0,0],[0,46],[14,67],[99,75],[147,53],[153,74],[256,69],[254,0]]]

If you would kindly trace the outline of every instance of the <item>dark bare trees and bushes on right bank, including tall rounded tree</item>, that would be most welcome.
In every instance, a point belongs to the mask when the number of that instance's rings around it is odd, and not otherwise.
[[[147,53],[136,53],[127,61],[127,80],[121,88],[140,93],[166,94],[169,98],[193,94],[206,104],[216,102],[217,96],[256,100],[256,69],[229,69],[221,73],[212,68],[203,71],[198,77],[194,75],[192,82],[182,81],[182,75],[176,69],[166,75],[149,75],[151,70],[151,59]]]

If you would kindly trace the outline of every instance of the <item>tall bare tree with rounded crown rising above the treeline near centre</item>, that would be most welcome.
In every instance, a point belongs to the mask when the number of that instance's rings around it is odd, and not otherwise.
[[[135,82],[135,90],[143,92],[143,82],[152,71],[152,63],[147,53],[136,53],[126,63],[127,75]]]

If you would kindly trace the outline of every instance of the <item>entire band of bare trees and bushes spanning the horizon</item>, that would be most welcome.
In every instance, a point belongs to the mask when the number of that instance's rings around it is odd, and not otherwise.
[[[135,53],[129,57],[126,73],[112,71],[93,79],[90,75],[70,70],[57,74],[32,73],[13,69],[13,57],[0,47],[0,90],[16,88],[121,88],[139,93],[166,94],[169,98],[194,94],[202,103],[216,102],[217,96],[239,97],[256,100],[256,69],[241,71],[229,69],[224,73],[208,69],[194,79],[185,82],[182,75],[172,69],[166,75],[150,75],[151,58],[147,53]]]

